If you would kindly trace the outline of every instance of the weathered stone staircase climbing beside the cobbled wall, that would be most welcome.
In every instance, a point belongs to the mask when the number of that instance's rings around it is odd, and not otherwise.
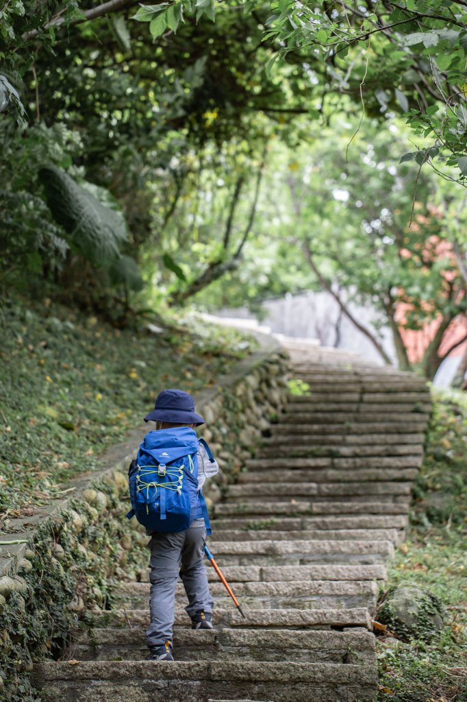
[[[93,614],[72,661],[36,665],[44,698],[374,701],[372,616],[404,537],[430,397],[423,380],[348,353],[287,350],[311,395],[290,397],[212,524],[210,549],[246,619],[208,566],[215,630],[189,628],[180,584],[176,661],[148,663],[149,582],[121,583],[124,609]]]

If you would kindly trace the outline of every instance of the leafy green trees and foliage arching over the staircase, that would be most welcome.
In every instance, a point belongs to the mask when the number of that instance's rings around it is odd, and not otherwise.
[[[4,296],[324,289],[384,361],[378,324],[428,378],[462,348],[467,3],[4,0],[0,36]]]

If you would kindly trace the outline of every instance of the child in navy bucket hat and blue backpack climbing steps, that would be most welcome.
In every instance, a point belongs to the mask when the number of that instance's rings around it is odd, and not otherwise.
[[[144,421],[155,421],[132,461],[128,477],[133,509],[149,541],[151,623],[146,632],[149,661],[173,661],[175,590],[182,578],[192,628],[212,629],[212,597],[203,564],[208,510],[202,488],[219,471],[208,444],[194,427],[204,423],[183,390],[163,390]]]

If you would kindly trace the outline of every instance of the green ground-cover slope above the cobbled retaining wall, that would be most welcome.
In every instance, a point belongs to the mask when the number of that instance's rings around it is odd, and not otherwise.
[[[201,324],[120,331],[49,300],[4,304],[0,325],[0,526],[97,468],[161,389],[210,387],[248,347]]]

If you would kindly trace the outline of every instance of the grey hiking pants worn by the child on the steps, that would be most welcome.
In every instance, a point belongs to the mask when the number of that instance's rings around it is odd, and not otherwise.
[[[188,614],[192,616],[198,609],[212,612],[214,602],[203,564],[205,538],[204,527],[190,527],[170,534],[161,531],[152,534],[149,541],[151,624],[146,632],[148,646],[172,641],[175,588],[179,573],[187,592],[188,606],[185,609]]]

